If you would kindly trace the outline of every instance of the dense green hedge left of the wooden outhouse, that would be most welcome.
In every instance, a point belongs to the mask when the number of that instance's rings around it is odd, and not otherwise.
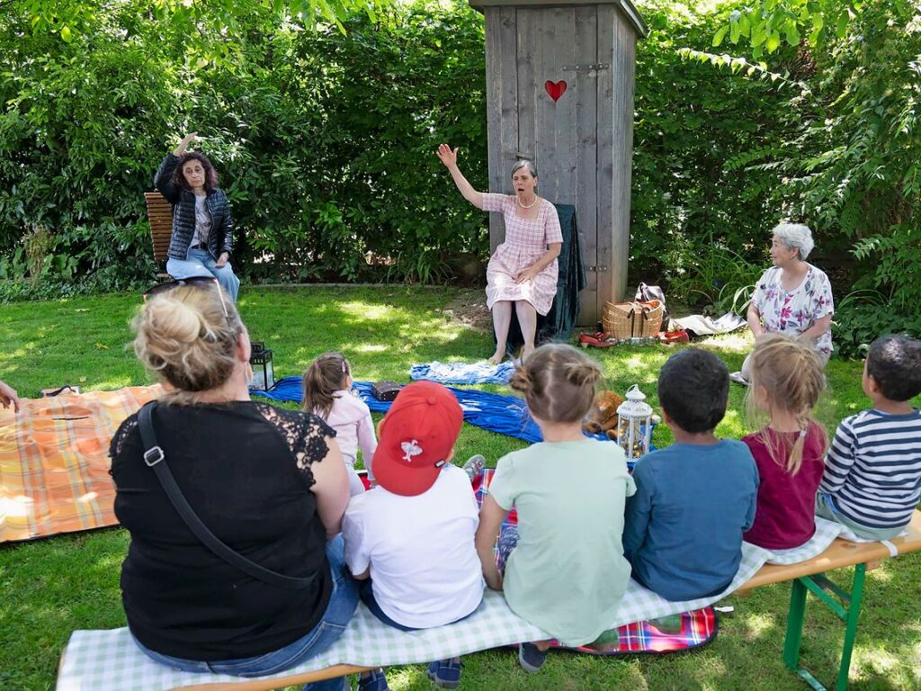
[[[488,247],[434,156],[461,146],[485,185],[483,22],[470,8],[357,15],[345,33],[279,17],[201,64],[144,5],[107,9],[71,42],[0,19],[0,277],[23,272],[12,252],[33,224],[80,275],[113,287],[149,276],[142,193],[190,130],[221,173],[243,239],[235,262],[253,278],[356,279],[376,256],[378,273],[433,280]]]

